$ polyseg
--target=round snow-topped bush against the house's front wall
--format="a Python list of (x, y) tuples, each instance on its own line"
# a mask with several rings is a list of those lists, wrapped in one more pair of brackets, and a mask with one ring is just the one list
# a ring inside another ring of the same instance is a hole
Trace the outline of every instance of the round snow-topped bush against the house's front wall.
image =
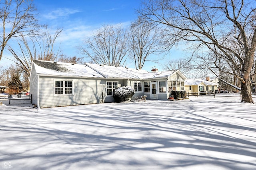
[(113, 97), (116, 102), (124, 102), (134, 95), (134, 88), (131, 86), (122, 86), (116, 88), (113, 92)]

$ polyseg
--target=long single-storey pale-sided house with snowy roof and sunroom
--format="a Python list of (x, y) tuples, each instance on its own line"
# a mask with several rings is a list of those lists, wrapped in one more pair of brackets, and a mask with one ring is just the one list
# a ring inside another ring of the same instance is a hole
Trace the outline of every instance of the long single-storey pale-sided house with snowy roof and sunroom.
[(186, 76), (179, 70), (147, 72), (99, 64), (71, 64), (33, 60), (30, 94), (38, 107), (114, 102), (113, 90), (132, 86), (133, 98), (167, 100), (184, 90)]

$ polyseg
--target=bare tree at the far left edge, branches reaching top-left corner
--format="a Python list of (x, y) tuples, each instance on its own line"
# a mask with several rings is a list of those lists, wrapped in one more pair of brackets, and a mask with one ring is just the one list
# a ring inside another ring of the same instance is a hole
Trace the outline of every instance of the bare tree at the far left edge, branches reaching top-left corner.
[(0, 60), (8, 41), (21, 35), (32, 35), (38, 27), (32, 0), (0, 1)]

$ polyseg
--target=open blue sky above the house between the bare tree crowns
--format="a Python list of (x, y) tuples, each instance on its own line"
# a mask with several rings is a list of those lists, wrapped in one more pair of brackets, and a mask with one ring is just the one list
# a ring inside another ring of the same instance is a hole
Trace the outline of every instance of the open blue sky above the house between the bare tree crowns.
[[(83, 43), (86, 36), (103, 24), (122, 23), (123, 27), (128, 27), (137, 18), (135, 9), (140, 7), (140, 0), (34, 0), (34, 4), (40, 24), (48, 25), (52, 30), (63, 29), (58, 38), (62, 53), (68, 57), (83, 57), (76, 47)], [(3, 65), (2, 60), (0, 65)], [(150, 71), (151, 67), (156, 66), (162, 70), (161, 63), (148, 62), (143, 69)], [(127, 66), (134, 68), (132, 63)]]

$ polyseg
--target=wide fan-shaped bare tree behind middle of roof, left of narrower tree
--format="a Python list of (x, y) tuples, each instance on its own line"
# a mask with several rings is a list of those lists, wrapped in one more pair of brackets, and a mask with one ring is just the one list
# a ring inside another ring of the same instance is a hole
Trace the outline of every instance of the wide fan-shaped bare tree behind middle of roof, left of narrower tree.
[(92, 63), (123, 66), (129, 51), (126, 31), (121, 25), (103, 25), (97, 33), (84, 41), (84, 46), (78, 49)]

